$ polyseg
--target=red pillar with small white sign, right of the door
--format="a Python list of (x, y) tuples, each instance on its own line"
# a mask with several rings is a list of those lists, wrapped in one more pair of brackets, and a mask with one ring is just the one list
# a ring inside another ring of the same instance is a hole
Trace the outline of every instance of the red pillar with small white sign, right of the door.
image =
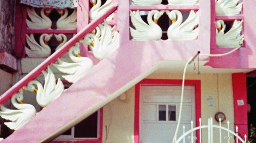
[[(238, 126), (238, 132), (242, 135), (242, 137), (245, 134), (248, 136), (246, 74), (233, 73), (232, 84), (235, 126)], [(244, 105), (238, 105), (238, 100), (243, 100)]]

